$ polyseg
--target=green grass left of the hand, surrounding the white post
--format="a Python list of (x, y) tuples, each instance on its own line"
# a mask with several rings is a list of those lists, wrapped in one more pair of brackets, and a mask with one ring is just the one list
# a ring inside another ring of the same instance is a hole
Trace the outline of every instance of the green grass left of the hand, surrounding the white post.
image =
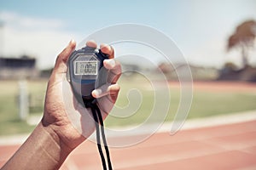
[[(29, 81), (30, 114), (42, 115), (46, 81)], [(0, 82), (0, 135), (30, 133), (34, 126), (20, 121), (18, 114), (18, 81)]]

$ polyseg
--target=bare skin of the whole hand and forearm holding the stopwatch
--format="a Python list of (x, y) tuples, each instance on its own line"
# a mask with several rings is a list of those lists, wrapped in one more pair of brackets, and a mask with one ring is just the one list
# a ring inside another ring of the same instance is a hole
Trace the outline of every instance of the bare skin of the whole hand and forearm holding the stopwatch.
[[(94, 48), (97, 46), (94, 41), (86, 42), (86, 45)], [(91, 119), (90, 109), (86, 110), (79, 105), (73, 97), (72, 88), (66, 78), (67, 60), (75, 47), (76, 42), (72, 40), (58, 55), (54, 70), (49, 77), (43, 119), (15, 155), (2, 167), (2, 170), (58, 169), (67, 156), (94, 132), (95, 122)], [(99, 107), (105, 119), (119, 94), (119, 85), (116, 82), (119, 79), (121, 67), (113, 60), (113, 48), (107, 44), (102, 44), (100, 48), (110, 58), (103, 62), (109, 71), (109, 84), (94, 90), (92, 95), (99, 99)], [(63, 87), (65, 93), (63, 93)], [(67, 98), (67, 96), (71, 97)], [(70, 119), (72, 116), (79, 117), (79, 123), (75, 118)]]

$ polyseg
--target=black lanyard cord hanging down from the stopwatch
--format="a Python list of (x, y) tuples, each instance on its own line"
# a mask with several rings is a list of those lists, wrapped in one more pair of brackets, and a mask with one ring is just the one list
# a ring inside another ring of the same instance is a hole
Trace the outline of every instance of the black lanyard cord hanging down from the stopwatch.
[[(104, 149), (107, 155), (107, 160), (108, 160), (108, 169), (112, 170), (112, 165), (111, 165), (111, 160), (110, 160), (110, 155), (109, 155), (109, 150), (108, 150), (108, 144), (107, 144), (107, 140), (105, 137), (105, 132), (104, 132), (104, 124), (103, 124), (103, 120), (102, 120), (102, 113), (101, 110), (99, 109), (98, 105), (96, 104), (86, 104), (85, 105), (87, 108), (90, 107), (90, 110), (92, 112), (92, 116), (94, 118), (95, 121), (95, 127), (96, 127), (96, 142), (97, 142), (97, 147), (102, 159), (102, 167), (104, 170), (107, 170), (107, 165), (106, 165), (106, 161), (105, 161), (105, 156), (103, 154), (102, 151), (102, 144), (101, 144), (101, 136), (100, 133), (102, 133), (102, 141), (104, 144)], [(101, 130), (100, 130), (101, 128)]]

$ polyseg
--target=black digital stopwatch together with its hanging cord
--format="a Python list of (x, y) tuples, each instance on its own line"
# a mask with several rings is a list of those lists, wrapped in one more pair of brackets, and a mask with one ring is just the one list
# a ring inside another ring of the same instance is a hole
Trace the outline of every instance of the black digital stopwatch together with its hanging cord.
[(96, 141), (102, 158), (102, 167), (107, 170), (107, 164), (102, 152), (100, 133), (102, 133), (102, 141), (107, 155), (108, 169), (112, 170), (102, 113), (96, 99), (91, 95), (95, 88), (100, 88), (107, 83), (108, 71), (103, 66), (104, 59), (108, 59), (108, 55), (103, 54), (101, 49), (84, 47), (74, 51), (67, 63), (67, 80), (70, 82), (73, 94), (79, 103), (88, 109), (90, 108), (95, 121)]

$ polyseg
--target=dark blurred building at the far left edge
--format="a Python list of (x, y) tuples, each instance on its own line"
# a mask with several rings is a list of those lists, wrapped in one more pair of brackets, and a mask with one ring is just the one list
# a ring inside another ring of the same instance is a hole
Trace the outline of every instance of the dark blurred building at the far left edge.
[(21, 58), (0, 58), (0, 78), (20, 79), (39, 76), (36, 59), (22, 56)]

